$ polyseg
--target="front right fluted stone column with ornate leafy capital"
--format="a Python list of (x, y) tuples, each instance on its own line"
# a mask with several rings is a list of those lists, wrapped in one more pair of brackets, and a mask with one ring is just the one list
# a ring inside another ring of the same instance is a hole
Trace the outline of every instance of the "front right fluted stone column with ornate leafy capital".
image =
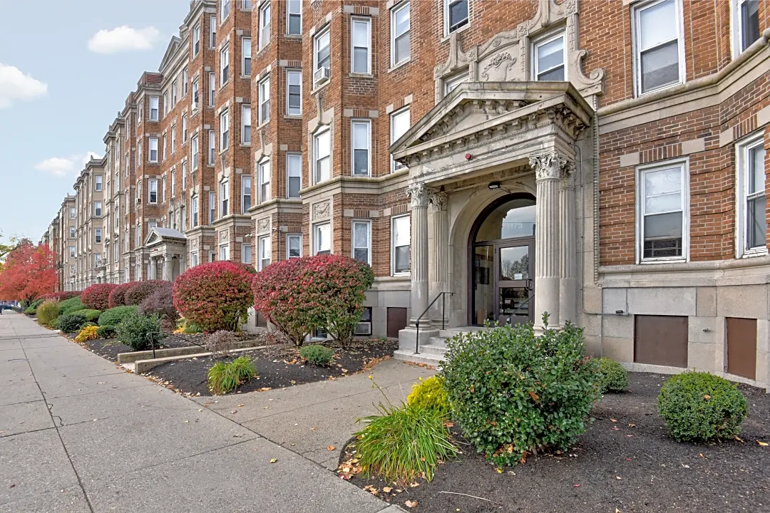
[(534, 252), (534, 325), (543, 328), (559, 323), (559, 180), (567, 159), (551, 151), (530, 157), (537, 183), (537, 216)]

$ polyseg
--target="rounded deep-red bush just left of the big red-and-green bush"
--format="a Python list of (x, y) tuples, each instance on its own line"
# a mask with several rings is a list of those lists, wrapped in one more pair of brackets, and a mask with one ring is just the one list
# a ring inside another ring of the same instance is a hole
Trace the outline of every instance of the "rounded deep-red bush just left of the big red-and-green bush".
[(232, 261), (196, 265), (176, 278), (174, 307), (203, 331), (235, 331), (252, 304), (252, 276)]

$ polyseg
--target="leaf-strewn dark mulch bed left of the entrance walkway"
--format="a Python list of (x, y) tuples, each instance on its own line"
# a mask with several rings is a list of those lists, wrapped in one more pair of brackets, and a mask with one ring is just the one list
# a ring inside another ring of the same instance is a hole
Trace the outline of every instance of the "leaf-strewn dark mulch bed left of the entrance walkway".
[(211, 395), (207, 384), (209, 368), (216, 361), (233, 361), (247, 355), (251, 357), (258, 378), (250, 379), (238, 387), (236, 393), (259, 390), (260, 388), (283, 388), (324, 379), (336, 379), (363, 370), (372, 361), (390, 357), (398, 348), (397, 341), (372, 338), (357, 340), (345, 349), (333, 342), (323, 345), (335, 350), (334, 361), (329, 367), (306, 365), (300, 358), (299, 349), (293, 345), (276, 345), (256, 351), (239, 351), (227, 358), (189, 358), (179, 360), (149, 371), (149, 375), (166, 381), (173, 388), (193, 395)]

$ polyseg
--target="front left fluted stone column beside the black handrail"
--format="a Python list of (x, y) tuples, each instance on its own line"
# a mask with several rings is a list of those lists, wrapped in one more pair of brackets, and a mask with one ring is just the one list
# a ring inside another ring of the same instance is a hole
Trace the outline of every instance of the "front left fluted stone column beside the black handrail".
[[(415, 325), (417, 316), (428, 306), (428, 194), (425, 184), (418, 182), (407, 187), (407, 196), (412, 200), (412, 276), (410, 325)], [(430, 318), (420, 321), (420, 328), (430, 325)]]

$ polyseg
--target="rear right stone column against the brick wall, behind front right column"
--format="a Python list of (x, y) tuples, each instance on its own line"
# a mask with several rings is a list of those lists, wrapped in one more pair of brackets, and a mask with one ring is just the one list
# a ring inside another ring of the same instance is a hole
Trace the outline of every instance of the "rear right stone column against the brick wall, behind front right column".
[(575, 165), (564, 166), (564, 176), (559, 184), (559, 228), (561, 261), (559, 281), (559, 324), (577, 320), (577, 242), (575, 240)]

